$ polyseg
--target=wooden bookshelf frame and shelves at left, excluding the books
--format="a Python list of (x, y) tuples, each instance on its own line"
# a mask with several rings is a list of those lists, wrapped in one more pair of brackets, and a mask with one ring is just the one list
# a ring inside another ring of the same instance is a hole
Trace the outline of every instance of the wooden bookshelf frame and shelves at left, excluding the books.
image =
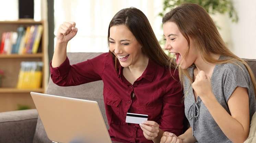
[[(42, 25), (43, 32), (39, 44), (39, 52), (36, 54), (0, 54), (0, 69), (4, 71), (2, 85), (0, 86), (0, 112), (13, 111), (18, 109), (18, 105), (35, 108), (30, 92), (45, 92), (45, 25), (44, 21), (34, 20), (17, 20), (17, 21), (0, 21), (0, 41), (3, 32), (17, 31), (20, 26)], [(43, 62), (42, 67), (42, 84), (39, 89), (17, 89), (17, 81), (22, 61)]]

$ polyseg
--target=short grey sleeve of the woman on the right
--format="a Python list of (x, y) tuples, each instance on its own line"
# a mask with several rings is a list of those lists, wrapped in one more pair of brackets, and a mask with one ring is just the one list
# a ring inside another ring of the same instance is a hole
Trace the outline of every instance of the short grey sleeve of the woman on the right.
[(228, 64), (223, 74), (223, 92), (225, 100), (228, 100), (236, 87), (247, 88), (249, 93), (249, 74), (244, 65)]

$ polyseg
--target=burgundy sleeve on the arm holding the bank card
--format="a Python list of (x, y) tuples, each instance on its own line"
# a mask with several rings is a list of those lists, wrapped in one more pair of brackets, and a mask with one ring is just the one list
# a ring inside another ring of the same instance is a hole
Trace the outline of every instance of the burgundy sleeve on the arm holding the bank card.
[(163, 96), (163, 109), (159, 122), (159, 128), (163, 131), (169, 131), (176, 136), (182, 134), (184, 120), (184, 102), (183, 90), (179, 80), (178, 72), (175, 72), (167, 85), (166, 94)]

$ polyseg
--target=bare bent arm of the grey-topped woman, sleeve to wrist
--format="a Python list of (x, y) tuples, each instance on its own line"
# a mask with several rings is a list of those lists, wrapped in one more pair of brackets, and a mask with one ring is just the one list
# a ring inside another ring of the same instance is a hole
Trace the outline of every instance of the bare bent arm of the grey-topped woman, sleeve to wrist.
[[(203, 100), (203, 99), (202, 99)], [(237, 87), (228, 100), (231, 115), (214, 95), (203, 102), (223, 133), (232, 142), (244, 142), (249, 134), (249, 102), (246, 88)], [(227, 122), (228, 121), (228, 122)]]

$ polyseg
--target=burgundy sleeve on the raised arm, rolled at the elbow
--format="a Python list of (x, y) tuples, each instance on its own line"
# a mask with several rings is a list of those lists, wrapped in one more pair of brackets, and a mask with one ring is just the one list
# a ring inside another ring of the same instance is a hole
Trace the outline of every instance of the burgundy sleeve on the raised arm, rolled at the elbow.
[(59, 67), (52, 67), (50, 62), (51, 79), (59, 86), (75, 86), (101, 80), (107, 55), (108, 53), (103, 53), (93, 59), (74, 65), (70, 65), (67, 57)]

